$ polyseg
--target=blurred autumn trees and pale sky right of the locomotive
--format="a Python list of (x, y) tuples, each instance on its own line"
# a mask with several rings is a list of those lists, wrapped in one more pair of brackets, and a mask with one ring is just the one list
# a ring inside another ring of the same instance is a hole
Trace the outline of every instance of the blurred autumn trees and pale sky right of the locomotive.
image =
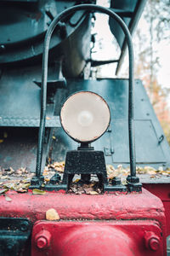
[(170, 111), (167, 107), (167, 95), (170, 89), (163, 89), (158, 83), (157, 73), (160, 59), (157, 45), (170, 40), (170, 0), (148, 0), (144, 9), (145, 32), (136, 31), (135, 51), (137, 78), (144, 81), (156, 115), (170, 143)]

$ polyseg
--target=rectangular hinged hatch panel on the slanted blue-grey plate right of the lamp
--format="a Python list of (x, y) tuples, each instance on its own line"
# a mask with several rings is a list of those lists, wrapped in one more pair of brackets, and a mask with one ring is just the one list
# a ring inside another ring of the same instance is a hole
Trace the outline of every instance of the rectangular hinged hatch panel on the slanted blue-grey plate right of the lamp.
[[(129, 162), (127, 121), (112, 120), (112, 141), (114, 145), (113, 162)], [(158, 144), (158, 137), (151, 120), (135, 120), (135, 141), (137, 164), (154, 164), (165, 162), (165, 155)]]

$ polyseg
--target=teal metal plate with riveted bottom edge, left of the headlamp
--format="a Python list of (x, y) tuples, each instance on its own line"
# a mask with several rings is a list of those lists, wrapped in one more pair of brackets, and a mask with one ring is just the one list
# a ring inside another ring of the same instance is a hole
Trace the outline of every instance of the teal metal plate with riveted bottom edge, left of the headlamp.
[[(49, 72), (54, 70), (49, 68)], [(0, 126), (39, 126), (41, 89), (33, 81), (40, 78), (41, 67), (18, 67), (3, 72), (0, 80)], [(59, 117), (54, 116), (54, 104), (47, 105), (46, 127), (60, 127)]]

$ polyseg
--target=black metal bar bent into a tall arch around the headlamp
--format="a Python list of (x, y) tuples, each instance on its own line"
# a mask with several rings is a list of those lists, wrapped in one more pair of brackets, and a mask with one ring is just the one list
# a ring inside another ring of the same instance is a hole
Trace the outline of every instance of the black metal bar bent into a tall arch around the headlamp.
[(38, 135), (38, 148), (37, 148), (37, 167), (36, 167), (36, 176), (40, 177), (41, 175), (41, 162), (42, 162), (42, 144), (44, 139), (44, 130), (45, 130), (45, 118), (46, 118), (46, 98), (47, 98), (47, 79), (48, 79), (48, 49), (50, 38), (54, 32), (54, 28), (59, 23), (59, 20), (64, 19), (66, 16), (71, 15), (73, 12), (78, 10), (88, 10), (89, 12), (97, 11), (99, 13), (104, 13), (110, 15), (112, 19), (116, 20), (119, 25), (122, 27), (122, 30), (127, 38), (127, 46), (129, 51), (129, 102), (128, 102), (128, 130), (129, 130), (129, 155), (130, 155), (130, 171), (131, 177), (136, 176), (136, 157), (135, 157), (135, 144), (134, 144), (134, 131), (133, 131), (133, 43), (131, 34), (128, 31), (128, 28), (124, 21), (112, 12), (110, 9), (95, 5), (95, 4), (81, 4), (69, 9), (64, 10), (59, 14), (48, 27), (46, 32), (44, 46), (43, 46), (43, 55), (42, 55), (42, 104), (41, 104), (41, 119), (40, 119), (40, 128)]

